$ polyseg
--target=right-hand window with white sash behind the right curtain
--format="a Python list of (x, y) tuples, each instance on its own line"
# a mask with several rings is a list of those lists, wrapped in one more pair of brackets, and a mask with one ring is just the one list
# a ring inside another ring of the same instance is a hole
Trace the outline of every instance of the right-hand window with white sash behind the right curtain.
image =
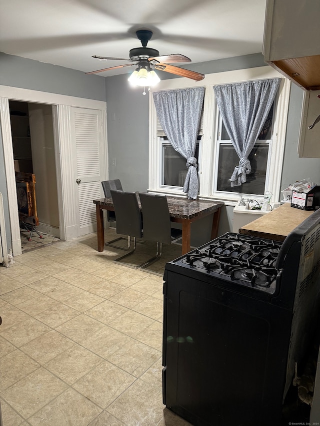
[(246, 182), (241, 186), (230, 186), (230, 177), (239, 157), (233, 148), (221, 115), (218, 113), (218, 132), (216, 140), (217, 167), (215, 170), (215, 190), (217, 192), (233, 192), (241, 194), (263, 195), (268, 188), (268, 169), (271, 151), (271, 136), (273, 124), (273, 105), (257, 137), (248, 159), (251, 163), (251, 173), (246, 175)]

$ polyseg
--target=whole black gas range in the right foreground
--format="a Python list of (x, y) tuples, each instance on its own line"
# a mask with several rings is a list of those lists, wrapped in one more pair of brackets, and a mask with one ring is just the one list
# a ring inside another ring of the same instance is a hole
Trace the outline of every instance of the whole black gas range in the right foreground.
[(226, 233), (165, 265), (163, 403), (196, 426), (276, 426), (320, 310), (320, 211), (283, 243)]

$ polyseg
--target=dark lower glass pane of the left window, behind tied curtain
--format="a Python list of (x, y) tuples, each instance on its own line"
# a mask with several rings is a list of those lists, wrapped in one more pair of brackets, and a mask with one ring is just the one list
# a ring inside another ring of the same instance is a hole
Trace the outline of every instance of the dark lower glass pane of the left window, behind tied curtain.
[[(195, 158), (198, 161), (199, 144), (196, 144)], [(187, 172), (186, 159), (171, 145), (162, 145), (162, 185), (183, 186)]]

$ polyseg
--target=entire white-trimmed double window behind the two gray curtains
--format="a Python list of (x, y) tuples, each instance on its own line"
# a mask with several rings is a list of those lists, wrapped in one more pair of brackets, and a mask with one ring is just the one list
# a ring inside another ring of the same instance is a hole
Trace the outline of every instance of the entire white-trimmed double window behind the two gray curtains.
[[(234, 205), (239, 194), (261, 197), (269, 190), (275, 201), (279, 199), (290, 81), (286, 78), (281, 80), (272, 111), (249, 155), (252, 172), (240, 187), (231, 187), (228, 181), (239, 159), (219, 117), (213, 91), (215, 84), (279, 76), (268, 65), (205, 75), (201, 129), (195, 154), (198, 160), (199, 198), (222, 200), (226, 205)], [(148, 190), (152, 192), (186, 196), (182, 191), (186, 160), (174, 151), (163, 130), (158, 128), (152, 91), (194, 87), (197, 84), (182, 78), (162, 80), (149, 93)]]

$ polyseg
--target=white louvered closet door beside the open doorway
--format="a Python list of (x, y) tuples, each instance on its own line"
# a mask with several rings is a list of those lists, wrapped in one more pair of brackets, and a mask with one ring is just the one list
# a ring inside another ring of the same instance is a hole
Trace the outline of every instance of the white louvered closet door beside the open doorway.
[(94, 198), (101, 198), (103, 144), (101, 112), (71, 108), (73, 122), (78, 193), (78, 236), (96, 230)]

